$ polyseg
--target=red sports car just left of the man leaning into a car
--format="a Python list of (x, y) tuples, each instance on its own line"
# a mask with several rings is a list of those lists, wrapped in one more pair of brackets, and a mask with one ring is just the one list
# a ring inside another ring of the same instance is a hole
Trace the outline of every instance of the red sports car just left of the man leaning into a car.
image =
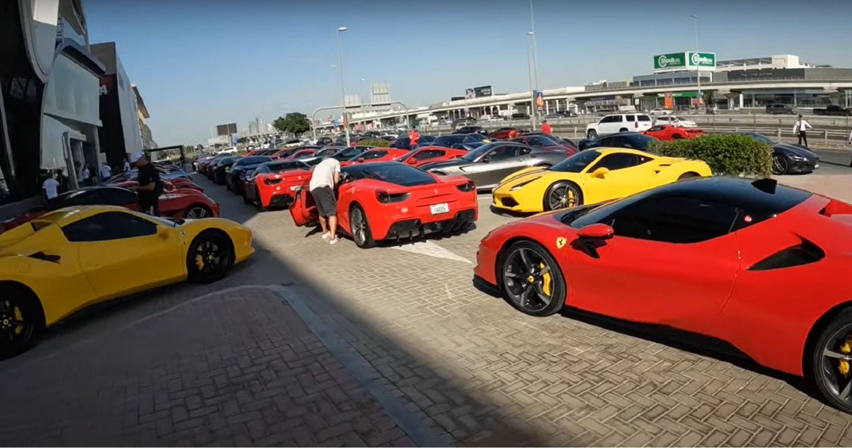
[(257, 167), (244, 183), (245, 204), (256, 204), (257, 210), (287, 207), (296, 192), (311, 180), (313, 166), (301, 160), (275, 160)]

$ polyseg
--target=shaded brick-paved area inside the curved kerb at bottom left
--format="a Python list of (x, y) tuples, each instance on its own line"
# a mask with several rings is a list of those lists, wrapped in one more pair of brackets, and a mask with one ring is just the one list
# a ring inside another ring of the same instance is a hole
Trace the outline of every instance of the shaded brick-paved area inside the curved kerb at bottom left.
[(3, 445), (413, 445), (262, 288), (187, 302), (0, 382)]

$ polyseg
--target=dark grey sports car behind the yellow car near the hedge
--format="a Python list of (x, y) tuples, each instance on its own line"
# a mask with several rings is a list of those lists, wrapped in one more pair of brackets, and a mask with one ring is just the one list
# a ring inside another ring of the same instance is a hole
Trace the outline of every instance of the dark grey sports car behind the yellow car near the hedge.
[(424, 164), (420, 169), (437, 175), (463, 175), (474, 181), (477, 189), (488, 190), (518, 169), (550, 167), (565, 158), (566, 152), (521, 145), (513, 141), (496, 141), (475, 148), (461, 158)]

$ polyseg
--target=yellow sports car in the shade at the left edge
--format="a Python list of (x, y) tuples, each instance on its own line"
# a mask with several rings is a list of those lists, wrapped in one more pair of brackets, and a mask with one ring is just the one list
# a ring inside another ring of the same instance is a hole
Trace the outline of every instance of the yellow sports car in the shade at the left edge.
[(221, 218), (167, 220), (121, 207), (67, 207), (0, 234), (0, 359), (93, 303), (184, 279), (221, 279), (254, 249)]

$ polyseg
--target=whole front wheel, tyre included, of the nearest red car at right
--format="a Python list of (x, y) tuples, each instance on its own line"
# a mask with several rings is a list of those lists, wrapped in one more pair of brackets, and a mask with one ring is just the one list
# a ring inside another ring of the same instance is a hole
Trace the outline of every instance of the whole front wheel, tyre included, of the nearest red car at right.
[(565, 278), (541, 244), (521, 240), (501, 250), (497, 279), (506, 301), (521, 313), (544, 317), (565, 306)]

